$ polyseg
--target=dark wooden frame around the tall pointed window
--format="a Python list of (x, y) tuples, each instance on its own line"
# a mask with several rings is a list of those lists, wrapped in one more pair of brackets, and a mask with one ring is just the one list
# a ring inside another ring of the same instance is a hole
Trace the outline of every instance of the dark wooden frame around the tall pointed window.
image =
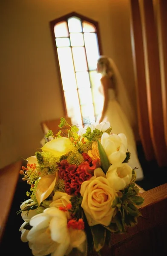
[[(70, 17), (73, 17), (73, 16), (80, 18), (81, 22), (83, 22), (83, 20), (85, 20), (89, 23), (92, 23), (95, 26), (97, 39), (98, 39), (99, 54), (102, 55), (102, 47), (101, 47), (100, 30), (99, 30), (98, 21), (92, 20), (86, 16), (78, 14), (77, 12), (70, 12), (69, 14), (63, 15), (55, 20), (50, 21), (52, 43), (53, 43), (53, 48), (54, 48), (54, 52), (55, 52), (55, 61), (58, 66), (58, 80), (59, 80), (59, 84), (60, 84), (61, 98), (62, 98), (62, 102), (63, 102), (63, 113), (65, 116), (67, 116), (67, 109), (66, 109), (66, 102), (65, 102), (64, 90), (63, 90), (63, 83), (62, 83), (62, 79), (61, 79), (60, 64), (59, 64), (59, 60), (58, 60), (58, 50), (57, 50), (58, 47), (56, 46), (56, 43), (55, 43), (54, 27), (55, 27), (56, 23), (59, 23), (61, 21), (67, 22), (67, 19)], [(81, 106), (80, 106), (80, 108), (81, 108)], [(83, 125), (83, 120), (82, 120), (82, 125)]]

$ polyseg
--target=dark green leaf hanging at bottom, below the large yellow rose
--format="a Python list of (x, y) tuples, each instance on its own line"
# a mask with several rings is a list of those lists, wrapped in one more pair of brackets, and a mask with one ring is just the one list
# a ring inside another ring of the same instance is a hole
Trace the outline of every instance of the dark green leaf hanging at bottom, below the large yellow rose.
[(93, 236), (93, 243), (96, 252), (99, 252), (105, 244), (106, 240), (106, 229), (102, 225), (95, 225), (90, 227), (92, 236)]

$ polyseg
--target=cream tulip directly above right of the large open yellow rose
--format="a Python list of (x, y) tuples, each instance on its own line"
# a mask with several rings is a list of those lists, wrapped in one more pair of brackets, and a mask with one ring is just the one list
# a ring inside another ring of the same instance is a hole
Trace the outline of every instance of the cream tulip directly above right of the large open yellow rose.
[(124, 189), (132, 179), (132, 168), (127, 163), (121, 163), (118, 166), (109, 167), (106, 178), (109, 185), (116, 191)]

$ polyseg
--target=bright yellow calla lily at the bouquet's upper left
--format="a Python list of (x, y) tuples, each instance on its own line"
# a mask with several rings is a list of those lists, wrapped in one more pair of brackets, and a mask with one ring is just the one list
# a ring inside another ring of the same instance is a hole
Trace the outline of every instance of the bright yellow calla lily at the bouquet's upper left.
[(44, 152), (50, 152), (55, 157), (60, 157), (72, 149), (72, 143), (68, 138), (61, 137), (47, 142), (41, 149)]

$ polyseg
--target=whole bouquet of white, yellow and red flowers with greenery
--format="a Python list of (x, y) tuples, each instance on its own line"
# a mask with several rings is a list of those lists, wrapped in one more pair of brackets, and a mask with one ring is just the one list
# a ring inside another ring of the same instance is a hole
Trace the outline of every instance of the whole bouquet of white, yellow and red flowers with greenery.
[(30, 185), (19, 211), (21, 240), (35, 256), (100, 254), (112, 233), (126, 232), (141, 215), (127, 138), (112, 134), (109, 122), (69, 125), (66, 137), (49, 130), (46, 138), (20, 170)]

